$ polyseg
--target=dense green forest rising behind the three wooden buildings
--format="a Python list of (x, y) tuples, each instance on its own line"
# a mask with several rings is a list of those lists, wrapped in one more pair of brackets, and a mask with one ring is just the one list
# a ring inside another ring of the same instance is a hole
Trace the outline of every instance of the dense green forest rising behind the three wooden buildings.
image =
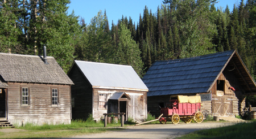
[(69, 0), (0, 2), (0, 52), (42, 55), (43, 44), (65, 72), (74, 59), (131, 65), (143, 77), (155, 60), (196, 57), (236, 49), (255, 78), (256, 0), (224, 9), (216, 0), (164, 0), (147, 6), (139, 23), (106, 11), (89, 24), (67, 14)]

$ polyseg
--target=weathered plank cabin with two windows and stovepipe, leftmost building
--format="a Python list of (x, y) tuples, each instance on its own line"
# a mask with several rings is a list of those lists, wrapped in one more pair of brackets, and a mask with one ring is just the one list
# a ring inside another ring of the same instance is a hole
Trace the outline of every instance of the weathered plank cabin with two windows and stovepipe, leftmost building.
[(0, 53), (0, 118), (70, 124), (72, 84), (53, 57)]

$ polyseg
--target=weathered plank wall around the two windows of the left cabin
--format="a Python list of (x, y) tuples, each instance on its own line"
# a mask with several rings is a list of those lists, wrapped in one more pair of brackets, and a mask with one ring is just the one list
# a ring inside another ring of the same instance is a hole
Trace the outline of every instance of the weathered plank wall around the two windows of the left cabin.
[[(22, 120), (33, 121), (49, 119), (71, 122), (71, 102), (69, 85), (10, 83), (8, 84), (8, 118), (20, 123)], [(30, 105), (22, 106), (20, 103), (20, 86), (30, 88)], [(51, 106), (51, 88), (59, 89), (59, 106)], [(36, 123), (42, 124), (37, 121)], [(52, 124), (55, 124), (52, 123)]]

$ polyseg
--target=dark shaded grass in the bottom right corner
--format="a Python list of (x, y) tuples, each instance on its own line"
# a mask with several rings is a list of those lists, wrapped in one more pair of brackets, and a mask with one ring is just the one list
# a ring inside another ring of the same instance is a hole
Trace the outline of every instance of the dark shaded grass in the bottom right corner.
[(186, 134), (179, 138), (255, 138), (256, 137), (256, 121), (248, 123), (238, 123), (228, 127), (205, 129)]

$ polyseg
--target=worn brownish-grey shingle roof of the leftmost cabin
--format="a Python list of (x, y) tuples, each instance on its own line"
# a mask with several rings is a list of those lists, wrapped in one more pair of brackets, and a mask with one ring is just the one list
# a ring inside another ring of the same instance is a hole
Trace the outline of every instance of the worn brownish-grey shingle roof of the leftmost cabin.
[(53, 57), (0, 53), (0, 75), (5, 82), (35, 82), (45, 84), (68, 84), (73, 82)]

